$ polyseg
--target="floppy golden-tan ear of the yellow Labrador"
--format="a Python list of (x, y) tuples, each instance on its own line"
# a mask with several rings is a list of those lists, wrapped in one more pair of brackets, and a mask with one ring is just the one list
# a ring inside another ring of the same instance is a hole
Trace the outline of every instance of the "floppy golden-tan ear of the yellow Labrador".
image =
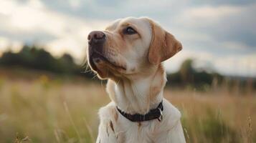
[(159, 64), (181, 51), (181, 43), (169, 32), (163, 30), (156, 22), (148, 19), (151, 24), (152, 37), (148, 50), (148, 61), (151, 64)]

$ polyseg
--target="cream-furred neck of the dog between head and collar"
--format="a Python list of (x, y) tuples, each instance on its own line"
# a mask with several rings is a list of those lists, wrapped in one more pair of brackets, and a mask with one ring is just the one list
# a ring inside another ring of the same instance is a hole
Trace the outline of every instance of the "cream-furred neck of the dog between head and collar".
[(163, 99), (163, 87), (166, 74), (160, 64), (151, 74), (136, 79), (120, 79), (118, 82), (108, 81), (107, 92), (110, 99), (129, 114), (146, 114), (154, 109)]

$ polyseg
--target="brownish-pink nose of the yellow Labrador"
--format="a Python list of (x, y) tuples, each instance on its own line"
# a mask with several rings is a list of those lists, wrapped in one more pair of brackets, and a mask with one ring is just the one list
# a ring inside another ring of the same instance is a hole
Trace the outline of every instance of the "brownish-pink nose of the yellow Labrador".
[(103, 31), (91, 31), (87, 39), (89, 44), (103, 44), (105, 41), (105, 34)]

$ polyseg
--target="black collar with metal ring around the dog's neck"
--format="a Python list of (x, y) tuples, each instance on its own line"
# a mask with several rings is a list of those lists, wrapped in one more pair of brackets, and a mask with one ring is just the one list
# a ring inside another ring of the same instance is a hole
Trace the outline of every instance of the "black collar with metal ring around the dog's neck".
[(158, 104), (156, 109), (151, 109), (147, 114), (127, 114), (120, 110), (118, 107), (118, 112), (123, 115), (126, 119), (129, 119), (131, 122), (143, 122), (149, 121), (152, 119), (158, 119), (159, 122), (163, 119), (163, 101)]

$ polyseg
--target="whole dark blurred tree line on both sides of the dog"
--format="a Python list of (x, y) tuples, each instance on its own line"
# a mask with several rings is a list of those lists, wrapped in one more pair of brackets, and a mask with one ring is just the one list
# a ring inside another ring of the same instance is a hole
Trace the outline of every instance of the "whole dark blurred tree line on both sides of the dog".
[[(192, 59), (186, 59), (179, 69), (172, 74), (167, 74), (167, 85), (177, 87), (191, 87), (205, 90), (209, 87), (219, 87), (223, 83), (229, 86), (238, 85), (239, 87), (247, 87), (248, 84), (256, 89), (255, 79), (242, 79), (234, 77), (224, 77), (217, 72), (209, 72), (207, 70), (198, 70), (193, 66)], [(77, 75), (92, 79), (95, 75), (92, 72), (84, 72), (85, 67), (77, 65), (70, 54), (64, 54), (60, 58), (52, 56), (48, 51), (37, 46), (24, 45), (18, 53), (6, 51), (0, 57), (0, 66), (13, 67), (21, 66), (26, 69), (38, 69), (50, 71), (55, 74)], [(249, 80), (249, 82), (248, 82)], [(237, 84), (238, 83), (238, 84)]]

